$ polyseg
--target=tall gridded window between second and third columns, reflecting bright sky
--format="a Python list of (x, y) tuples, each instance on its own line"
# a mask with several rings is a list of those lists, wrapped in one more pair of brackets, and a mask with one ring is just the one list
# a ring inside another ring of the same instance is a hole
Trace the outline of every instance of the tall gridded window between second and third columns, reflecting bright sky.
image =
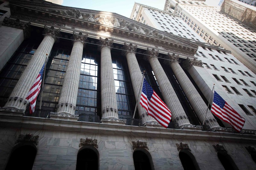
[(94, 46), (88, 47), (87, 45), (87, 48), (84, 49), (76, 99), (77, 115), (101, 115), (100, 55), (94, 52), (94, 48)]

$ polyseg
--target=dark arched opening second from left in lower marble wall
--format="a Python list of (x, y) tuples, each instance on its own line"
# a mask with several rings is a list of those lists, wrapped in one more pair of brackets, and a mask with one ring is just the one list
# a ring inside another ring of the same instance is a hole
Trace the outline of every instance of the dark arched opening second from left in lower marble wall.
[(76, 170), (98, 170), (98, 154), (90, 148), (82, 148), (77, 154)]

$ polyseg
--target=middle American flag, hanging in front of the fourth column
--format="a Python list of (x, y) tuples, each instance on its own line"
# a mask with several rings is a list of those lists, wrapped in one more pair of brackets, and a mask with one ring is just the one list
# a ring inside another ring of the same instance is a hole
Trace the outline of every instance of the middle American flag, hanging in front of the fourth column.
[(172, 116), (171, 111), (148, 84), (145, 78), (143, 81), (140, 105), (144, 107), (147, 110), (148, 115), (154, 117), (158, 123), (165, 128), (168, 127)]

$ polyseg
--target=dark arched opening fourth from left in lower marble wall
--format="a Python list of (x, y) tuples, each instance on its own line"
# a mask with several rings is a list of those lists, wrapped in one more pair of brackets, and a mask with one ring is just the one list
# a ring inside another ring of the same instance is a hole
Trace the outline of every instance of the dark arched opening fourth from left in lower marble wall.
[(196, 158), (188, 150), (181, 150), (179, 157), (184, 170), (200, 170)]

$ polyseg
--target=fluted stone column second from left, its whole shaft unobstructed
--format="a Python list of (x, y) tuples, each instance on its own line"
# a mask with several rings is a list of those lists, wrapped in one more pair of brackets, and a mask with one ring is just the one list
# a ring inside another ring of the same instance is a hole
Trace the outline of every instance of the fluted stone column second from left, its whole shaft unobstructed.
[(81, 60), (88, 35), (73, 32), (73, 48), (68, 61), (64, 83), (60, 93), (58, 114), (75, 114), (77, 90), (80, 78)]

